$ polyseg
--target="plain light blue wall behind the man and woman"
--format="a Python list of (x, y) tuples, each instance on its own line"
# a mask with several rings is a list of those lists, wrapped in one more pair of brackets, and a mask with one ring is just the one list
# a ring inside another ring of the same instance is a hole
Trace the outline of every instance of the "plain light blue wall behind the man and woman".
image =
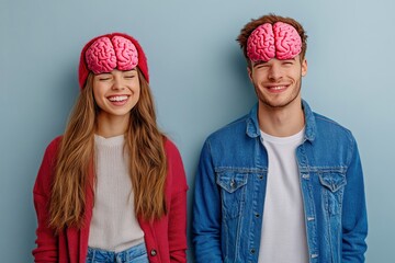
[(33, 260), (32, 186), (46, 145), (63, 133), (78, 95), (77, 66), (86, 42), (114, 31), (139, 39), (160, 127), (184, 160), (190, 205), (205, 137), (256, 101), (235, 38), (250, 19), (268, 12), (293, 16), (307, 31), (303, 95), (357, 137), (370, 219), (368, 262), (390, 262), (395, 248), (394, 11), (392, 0), (1, 0), (1, 262)]

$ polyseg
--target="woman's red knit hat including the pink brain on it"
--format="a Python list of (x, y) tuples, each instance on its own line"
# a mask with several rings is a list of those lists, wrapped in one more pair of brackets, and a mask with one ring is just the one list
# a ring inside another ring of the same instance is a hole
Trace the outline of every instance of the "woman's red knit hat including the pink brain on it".
[(110, 72), (138, 67), (149, 82), (146, 56), (138, 42), (129, 35), (112, 33), (91, 39), (82, 49), (79, 65), (79, 84), (83, 89), (89, 71)]

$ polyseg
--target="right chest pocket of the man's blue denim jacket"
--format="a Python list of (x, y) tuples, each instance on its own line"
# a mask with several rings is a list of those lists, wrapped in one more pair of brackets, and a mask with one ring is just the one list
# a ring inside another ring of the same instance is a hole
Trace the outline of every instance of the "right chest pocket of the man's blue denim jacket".
[(329, 216), (341, 213), (342, 197), (347, 184), (346, 173), (340, 171), (318, 172), (319, 182), (323, 186), (321, 195), (324, 207)]

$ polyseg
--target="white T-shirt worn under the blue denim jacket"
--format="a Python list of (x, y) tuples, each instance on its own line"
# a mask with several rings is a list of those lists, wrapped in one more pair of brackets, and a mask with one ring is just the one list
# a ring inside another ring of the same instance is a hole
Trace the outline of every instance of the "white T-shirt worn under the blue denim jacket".
[(261, 132), (269, 171), (264, 197), (259, 263), (307, 263), (308, 248), (296, 147), (304, 129), (290, 137)]

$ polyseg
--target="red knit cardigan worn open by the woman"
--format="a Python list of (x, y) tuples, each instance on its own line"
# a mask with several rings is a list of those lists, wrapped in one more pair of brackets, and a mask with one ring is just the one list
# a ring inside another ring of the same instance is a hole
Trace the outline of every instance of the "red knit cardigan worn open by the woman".
[[(67, 228), (55, 235), (47, 226), (54, 160), (61, 137), (47, 147), (33, 188), (34, 206), (37, 214), (36, 244), (34, 262), (79, 263), (86, 262), (89, 226), (92, 218), (93, 193), (87, 191), (87, 209), (83, 227)], [(149, 262), (187, 262), (187, 180), (182, 160), (177, 147), (166, 140), (168, 161), (166, 181), (166, 203), (168, 214), (161, 219), (148, 222), (138, 219), (144, 231)], [(93, 170), (92, 170), (93, 171)], [(93, 172), (91, 171), (91, 175)]]

